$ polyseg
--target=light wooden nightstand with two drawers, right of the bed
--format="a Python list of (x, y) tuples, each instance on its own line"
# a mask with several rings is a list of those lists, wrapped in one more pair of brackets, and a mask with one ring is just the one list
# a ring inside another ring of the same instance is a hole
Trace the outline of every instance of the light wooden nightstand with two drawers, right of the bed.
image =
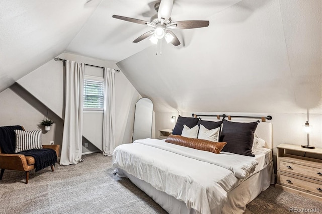
[[(322, 148), (306, 149), (299, 145), (280, 144), (277, 146), (276, 188), (322, 201)], [(308, 158), (287, 154), (287, 150), (317, 154)]]

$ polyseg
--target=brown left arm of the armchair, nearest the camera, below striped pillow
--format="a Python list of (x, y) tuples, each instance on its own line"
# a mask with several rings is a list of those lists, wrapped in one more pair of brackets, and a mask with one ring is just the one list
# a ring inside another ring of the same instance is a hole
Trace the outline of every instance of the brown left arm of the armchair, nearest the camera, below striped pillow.
[(25, 171), (28, 168), (28, 164), (25, 155), (1, 153), (0, 168)]

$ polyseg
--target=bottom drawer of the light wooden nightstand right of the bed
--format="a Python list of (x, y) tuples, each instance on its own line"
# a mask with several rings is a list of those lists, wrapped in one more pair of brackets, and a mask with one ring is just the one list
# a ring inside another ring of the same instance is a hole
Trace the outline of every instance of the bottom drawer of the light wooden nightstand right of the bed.
[[(285, 186), (289, 186), (292, 188), (300, 189), (304, 192), (322, 196), (322, 182), (313, 180), (313, 179), (305, 179), (296, 175), (291, 175), (283, 172), (277, 172), (278, 180), (277, 183)], [(321, 189), (321, 190), (319, 190)]]

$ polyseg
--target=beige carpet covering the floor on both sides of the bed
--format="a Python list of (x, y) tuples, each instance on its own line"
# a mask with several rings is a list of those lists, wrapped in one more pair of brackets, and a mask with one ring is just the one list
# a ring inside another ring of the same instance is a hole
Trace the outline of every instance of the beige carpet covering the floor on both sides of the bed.
[[(56, 165), (54, 172), (50, 167), (33, 171), (28, 184), (24, 172), (6, 170), (0, 181), (0, 213), (166, 213), (127, 178), (113, 175), (112, 157), (95, 153), (83, 158), (76, 165)], [(271, 186), (245, 213), (290, 213), (289, 207), (322, 212), (322, 202)]]

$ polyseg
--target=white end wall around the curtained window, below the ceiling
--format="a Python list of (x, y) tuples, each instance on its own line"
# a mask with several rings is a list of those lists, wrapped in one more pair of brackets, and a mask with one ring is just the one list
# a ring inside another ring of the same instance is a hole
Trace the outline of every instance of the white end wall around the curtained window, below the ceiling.
[[(113, 61), (103, 61), (70, 53), (62, 53), (58, 57), (62, 59), (84, 62), (86, 64), (118, 69)], [(48, 106), (48, 108), (56, 113), (59, 117), (63, 117), (64, 72), (61, 61), (54, 61), (53, 59), (50, 60), (18, 80), (18, 83), (37, 99), (43, 102), (46, 106)], [(116, 72), (116, 145), (130, 143), (132, 141), (135, 102), (139, 99), (139, 97), (139, 93), (127, 80), (123, 73)], [(44, 117), (40, 113), (37, 115), (35, 113), (37, 110), (35, 110), (32, 106), (28, 106), (28, 103), (25, 103), (21, 97), (17, 96), (10, 89), (0, 93), (0, 100), (1, 126), (21, 124), (24, 125), (27, 130), (35, 129), (37, 128), (37, 124), (39, 124)], [(33, 118), (33, 120), (30, 120), (29, 117)], [(21, 121), (24, 121), (24, 124), (22, 124)], [(89, 126), (96, 127), (96, 124), (87, 124), (85, 128)], [(45, 139), (48, 141), (48, 143), (49, 141), (54, 140), (54, 132), (55, 129), (51, 130), (46, 135)], [(86, 130), (84, 133), (86, 133)], [(91, 136), (89, 136), (89, 138), (91, 138)], [(61, 142), (55, 143), (61, 145)]]

